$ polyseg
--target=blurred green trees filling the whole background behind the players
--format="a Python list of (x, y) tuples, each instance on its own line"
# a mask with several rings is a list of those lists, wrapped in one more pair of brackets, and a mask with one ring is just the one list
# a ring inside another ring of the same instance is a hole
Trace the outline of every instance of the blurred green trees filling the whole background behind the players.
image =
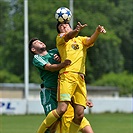
[[(92, 35), (99, 24), (107, 30), (88, 50), (87, 83), (93, 83), (110, 72), (132, 72), (132, 4), (132, 0), (74, 1), (74, 26), (78, 21), (88, 24), (80, 35)], [(46, 43), (47, 49), (55, 48), (57, 21), (54, 14), (61, 6), (69, 8), (69, 1), (28, 0), (28, 5), (29, 39), (38, 37)], [(0, 9), (1, 76), (10, 73), (17, 76), (19, 82), (24, 82), (24, 1), (1, 0)], [(38, 72), (32, 65), (32, 56), (30, 54), (29, 58), (30, 82), (40, 83)], [(7, 82), (5, 78), (1, 79), (0, 82)], [(18, 82), (15, 79), (8, 79), (8, 82)]]

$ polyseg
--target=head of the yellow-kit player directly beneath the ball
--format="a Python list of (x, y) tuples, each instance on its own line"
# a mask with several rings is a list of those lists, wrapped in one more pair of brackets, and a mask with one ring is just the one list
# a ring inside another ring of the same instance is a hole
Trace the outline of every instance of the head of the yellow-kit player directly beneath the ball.
[(67, 33), (72, 30), (70, 23), (68, 23), (68, 22), (64, 22), (64, 23), (58, 22), (56, 25), (56, 28), (57, 28), (58, 33)]

